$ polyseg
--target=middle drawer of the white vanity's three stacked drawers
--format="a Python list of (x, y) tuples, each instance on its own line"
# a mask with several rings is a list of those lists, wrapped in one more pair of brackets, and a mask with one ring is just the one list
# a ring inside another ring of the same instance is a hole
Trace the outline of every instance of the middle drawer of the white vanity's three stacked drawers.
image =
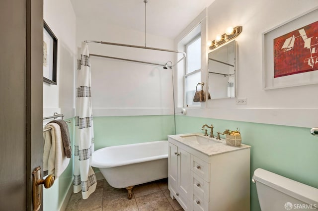
[(199, 177), (193, 171), (190, 172), (191, 185), (193, 192), (199, 195), (205, 202), (210, 201), (210, 183)]

